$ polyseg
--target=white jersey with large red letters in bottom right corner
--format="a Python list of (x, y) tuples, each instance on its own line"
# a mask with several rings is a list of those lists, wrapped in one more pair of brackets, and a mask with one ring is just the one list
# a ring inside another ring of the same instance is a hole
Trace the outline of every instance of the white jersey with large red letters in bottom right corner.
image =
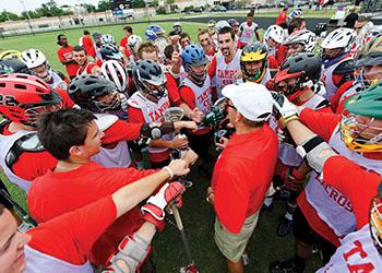
[(329, 263), (317, 273), (378, 273), (382, 272), (382, 257), (370, 236), (369, 224), (348, 234)]

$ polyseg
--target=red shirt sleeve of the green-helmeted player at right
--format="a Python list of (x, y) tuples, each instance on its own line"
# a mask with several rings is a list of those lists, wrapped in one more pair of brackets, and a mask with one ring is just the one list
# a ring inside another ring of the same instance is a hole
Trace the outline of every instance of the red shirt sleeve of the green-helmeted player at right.
[(357, 229), (369, 223), (370, 202), (377, 195), (381, 176), (338, 155), (325, 162), (323, 177), (327, 185), (333, 186), (350, 200), (356, 215)]

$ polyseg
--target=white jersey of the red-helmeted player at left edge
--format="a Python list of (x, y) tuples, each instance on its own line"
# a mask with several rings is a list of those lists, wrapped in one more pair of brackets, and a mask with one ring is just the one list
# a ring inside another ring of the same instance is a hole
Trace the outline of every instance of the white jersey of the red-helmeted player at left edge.
[(13, 144), (20, 140), (21, 138), (27, 135), (27, 134), (36, 134), (35, 131), (17, 131), (10, 135), (0, 134), (0, 166), (8, 177), (8, 179), (12, 182), (17, 185), (20, 188), (22, 188), (24, 191), (28, 192), (32, 181), (27, 181), (19, 176), (16, 176), (7, 165), (5, 163), (5, 156), (8, 155), (9, 151), (13, 146)]

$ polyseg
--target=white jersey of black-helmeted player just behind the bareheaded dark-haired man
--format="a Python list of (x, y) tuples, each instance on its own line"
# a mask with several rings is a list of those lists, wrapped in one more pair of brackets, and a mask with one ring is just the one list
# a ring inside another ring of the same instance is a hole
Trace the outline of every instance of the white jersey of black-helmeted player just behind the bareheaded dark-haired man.
[[(118, 117), (110, 114), (95, 114), (99, 130), (105, 131), (115, 122)], [(102, 147), (100, 152), (92, 156), (92, 161), (107, 168), (123, 168), (131, 165), (131, 157), (127, 141), (119, 141), (112, 149)]]

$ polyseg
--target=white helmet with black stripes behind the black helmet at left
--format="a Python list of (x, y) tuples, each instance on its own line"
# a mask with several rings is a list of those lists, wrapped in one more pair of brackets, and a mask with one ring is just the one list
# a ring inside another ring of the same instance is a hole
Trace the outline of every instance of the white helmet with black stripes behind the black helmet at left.
[(119, 92), (123, 93), (126, 91), (129, 79), (122, 63), (116, 60), (105, 61), (100, 67), (100, 71), (104, 78), (116, 84)]

